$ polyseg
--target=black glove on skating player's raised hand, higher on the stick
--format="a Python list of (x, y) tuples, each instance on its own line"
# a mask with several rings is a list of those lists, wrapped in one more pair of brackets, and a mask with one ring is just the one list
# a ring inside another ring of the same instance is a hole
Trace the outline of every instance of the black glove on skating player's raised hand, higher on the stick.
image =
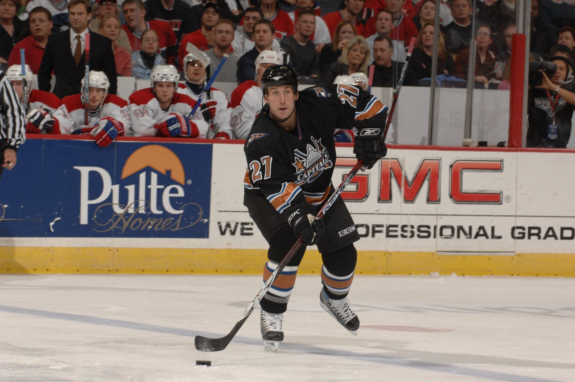
[(354, 154), (363, 162), (362, 170), (371, 169), (388, 153), (385, 141), (382, 138), (384, 129), (367, 127), (363, 121), (355, 121)]

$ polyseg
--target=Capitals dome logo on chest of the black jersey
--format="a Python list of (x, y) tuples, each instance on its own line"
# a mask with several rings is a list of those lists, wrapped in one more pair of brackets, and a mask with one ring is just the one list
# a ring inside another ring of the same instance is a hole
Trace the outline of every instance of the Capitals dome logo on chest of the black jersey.
[(292, 165), (296, 167), (296, 184), (298, 186), (305, 182), (311, 183), (315, 181), (324, 170), (333, 167), (327, 148), (321, 144), (321, 138), (316, 140), (312, 137), (312, 142), (313, 146), (309, 143), (306, 146), (307, 153), (297, 149), (294, 151), (294, 162)]

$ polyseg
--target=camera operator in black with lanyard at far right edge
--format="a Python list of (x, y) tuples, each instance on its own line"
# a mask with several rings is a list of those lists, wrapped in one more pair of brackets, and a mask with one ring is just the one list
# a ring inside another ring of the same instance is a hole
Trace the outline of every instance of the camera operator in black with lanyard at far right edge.
[[(553, 63), (553, 65), (551, 65)], [(553, 56), (549, 62), (538, 63), (547, 67), (538, 79), (531, 70), (528, 93), (527, 147), (565, 148), (571, 135), (571, 119), (575, 110), (575, 93), (563, 86), (573, 80), (573, 63), (563, 56)], [(554, 71), (553, 71), (554, 69)]]

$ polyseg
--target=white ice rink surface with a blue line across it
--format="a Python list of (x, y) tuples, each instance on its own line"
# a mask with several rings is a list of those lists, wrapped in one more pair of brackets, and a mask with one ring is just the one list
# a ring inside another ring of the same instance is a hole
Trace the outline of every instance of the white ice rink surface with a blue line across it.
[[(575, 279), (356, 276), (355, 337), (298, 276), (278, 353), (249, 276), (0, 276), (0, 381), (575, 381)], [(211, 360), (212, 366), (196, 366)]]

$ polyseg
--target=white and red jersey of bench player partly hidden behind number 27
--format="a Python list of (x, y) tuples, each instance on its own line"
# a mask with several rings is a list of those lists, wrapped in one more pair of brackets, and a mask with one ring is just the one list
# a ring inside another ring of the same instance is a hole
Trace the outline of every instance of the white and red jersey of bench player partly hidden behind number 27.
[(230, 125), (236, 139), (247, 139), (255, 118), (262, 110), (262, 102), (262, 88), (251, 79), (233, 90)]

